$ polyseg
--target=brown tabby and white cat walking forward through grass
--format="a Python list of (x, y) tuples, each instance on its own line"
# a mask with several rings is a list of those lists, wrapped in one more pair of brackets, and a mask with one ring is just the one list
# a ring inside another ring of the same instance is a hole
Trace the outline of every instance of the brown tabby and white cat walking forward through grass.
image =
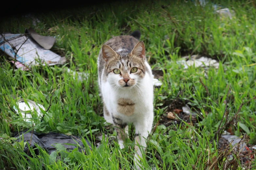
[(153, 75), (145, 59), (144, 42), (139, 39), (139, 31), (115, 36), (102, 46), (97, 60), (104, 118), (115, 126), (121, 149), (128, 137), (128, 123), (134, 124), (137, 169), (154, 117)]

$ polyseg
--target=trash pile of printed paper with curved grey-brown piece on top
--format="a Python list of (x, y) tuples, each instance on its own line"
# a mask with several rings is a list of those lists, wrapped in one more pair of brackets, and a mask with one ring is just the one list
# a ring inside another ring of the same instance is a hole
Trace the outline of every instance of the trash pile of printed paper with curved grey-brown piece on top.
[(55, 38), (38, 35), (33, 29), (26, 34), (3, 33), (0, 37), (0, 49), (4, 51), (17, 68), (28, 70), (31, 65), (64, 64), (66, 59), (52, 52)]

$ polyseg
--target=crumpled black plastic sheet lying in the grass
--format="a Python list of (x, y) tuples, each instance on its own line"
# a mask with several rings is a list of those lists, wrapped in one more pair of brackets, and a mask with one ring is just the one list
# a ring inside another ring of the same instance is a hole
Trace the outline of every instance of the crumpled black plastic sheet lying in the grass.
[[(81, 141), (81, 138), (78, 136), (67, 136), (64, 134), (58, 134), (54, 132), (50, 132), (48, 134), (40, 134), (33, 132), (23, 132), (23, 133), (15, 133), (15, 138), (17, 138), (17, 142), (27, 142), (30, 143), (30, 147), (34, 149), (36, 155), (39, 155), (39, 149), (35, 146), (35, 144), (39, 145), (41, 148), (45, 149), (48, 154), (51, 154), (53, 151), (56, 151), (56, 144), (62, 144), (67, 150), (73, 150), (78, 147), (78, 151), (82, 151), (81, 147), (83, 147), (83, 143)], [(88, 142), (88, 140), (84, 139), (91, 149), (91, 144)], [(24, 152), (28, 152), (28, 146), (24, 147)], [(67, 145), (71, 144), (71, 145)]]

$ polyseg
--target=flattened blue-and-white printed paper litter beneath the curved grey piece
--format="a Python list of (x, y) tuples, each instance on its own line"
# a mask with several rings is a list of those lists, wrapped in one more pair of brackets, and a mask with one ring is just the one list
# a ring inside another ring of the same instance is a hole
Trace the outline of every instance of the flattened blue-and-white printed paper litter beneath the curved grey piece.
[[(65, 57), (61, 57), (50, 50), (43, 49), (31, 38), (27, 39), (25, 34), (1, 35), (0, 49), (12, 59), (16, 59), (26, 67), (38, 65), (39, 63), (42, 65), (45, 65), (45, 63), (47, 65), (64, 64), (66, 61)], [(16, 53), (17, 55), (15, 58)], [(36, 59), (38, 60), (36, 61)]]

